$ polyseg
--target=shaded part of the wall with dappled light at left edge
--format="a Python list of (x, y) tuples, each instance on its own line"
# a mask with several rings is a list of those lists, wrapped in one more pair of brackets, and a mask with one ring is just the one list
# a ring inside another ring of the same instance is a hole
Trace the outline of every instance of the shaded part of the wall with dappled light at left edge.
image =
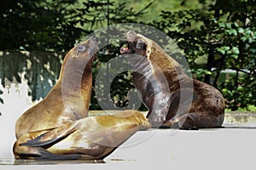
[[(6, 79), (20, 83), (20, 75), (24, 75), (32, 100), (44, 98), (58, 78), (62, 57), (62, 53), (56, 52), (3, 51), (0, 53), (1, 83), (3, 87), (7, 85)], [(0, 103), (3, 103), (1, 94), (0, 91)]]

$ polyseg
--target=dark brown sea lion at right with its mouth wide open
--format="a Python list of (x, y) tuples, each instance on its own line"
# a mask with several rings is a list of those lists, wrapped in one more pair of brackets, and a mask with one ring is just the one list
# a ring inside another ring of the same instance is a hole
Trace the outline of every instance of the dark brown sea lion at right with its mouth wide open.
[(129, 31), (125, 42), (120, 53), (133, 65), (133, 82), (154, 127), (221, 127), (224, 98), (218, 89), (188, 77), (175, 59), (147, 37)]

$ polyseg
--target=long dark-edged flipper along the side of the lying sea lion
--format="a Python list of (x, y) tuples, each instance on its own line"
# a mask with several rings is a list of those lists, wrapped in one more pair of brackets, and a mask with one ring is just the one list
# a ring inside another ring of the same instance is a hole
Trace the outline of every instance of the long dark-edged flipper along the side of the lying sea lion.
[(39, 135), (35, 139), (28, 140), (26, 143), (21, 143), (20, 146), (43, 147), (46, 145), (53, 145), (75, 131), (75, 128), (72, 125), (72, 123), (67, 123), (61, 127), (56, 127)]

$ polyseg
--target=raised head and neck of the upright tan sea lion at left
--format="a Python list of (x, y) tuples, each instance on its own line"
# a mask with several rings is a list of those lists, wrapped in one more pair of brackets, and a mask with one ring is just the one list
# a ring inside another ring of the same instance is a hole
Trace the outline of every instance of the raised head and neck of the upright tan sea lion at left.
[(63, 62), (59, 83), (68, 119), (70, 116), (78, 119), (81, 117), (77, 115), (88, 115), (92, 86), (91, 65), (97, 49), (96, 42), (88, 40), (73, 48)]

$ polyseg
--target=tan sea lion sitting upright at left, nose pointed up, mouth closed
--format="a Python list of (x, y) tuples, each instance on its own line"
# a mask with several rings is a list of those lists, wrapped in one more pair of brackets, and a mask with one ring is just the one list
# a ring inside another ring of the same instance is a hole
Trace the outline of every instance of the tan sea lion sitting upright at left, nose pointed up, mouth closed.
[(89, 39), (67, 53), (55, 86), (41, 102), (17, 120), (17, 139), (24, 133), (60, 127), (88, 115), (92, 87), (91, 64), (97, 50), (96, 41)]

